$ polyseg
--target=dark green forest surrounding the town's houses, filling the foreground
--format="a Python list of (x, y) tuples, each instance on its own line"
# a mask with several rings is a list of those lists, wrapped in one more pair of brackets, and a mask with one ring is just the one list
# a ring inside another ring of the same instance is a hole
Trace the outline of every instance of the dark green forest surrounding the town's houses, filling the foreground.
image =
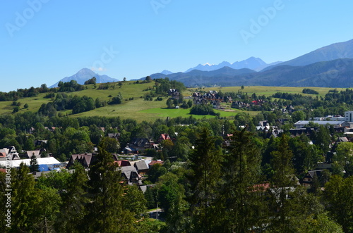
[[(253, 127), (260, 120), (286, 117), (284, 125), (274, 120), (284, 129), (280, 137), (268, 138)], [(97, 162), (88, 171), (77, 164), (74, 172), (50, 172), (35, 180), (24, 165), (11, 170), (11, 229), (3, 221), (2, 232), (353, 230), (352, 142), (337, 143), (342, 133), (325, 126), (293, 137), (289, 132), (293, 121), (287, 113), (251, 117), (244, 112), (233, 120), (190, 117), (136, 122), (48, 118), (26, 112), (1, 115), (0, 122), (0, 147), (29, 151), (35, 149), (35, 140), (46, 139), (47, 144), (40, 147), (61, 161), (99, 148)], [(111, 154), (120, 150), (109, 147), (107, 138), (112, 132), (119, 132), (121, 149), (132, 139), (157, 141), (160, 134), (171, 135), (171, 140), (161, 142), (160, 150), (145, 151), (164, 160), (145, 176), (143, 184), (155, 184), (145, 194), (136, 186), (119, 183), (121, 174)], [(324, 162), (331, 168), (316, 176), (311, 187), (303, 187), (300, 182), (306, 173)], [(1, 176), (4, 180), (5, 173)], [(6, 189), (4, 185), (1, 182), (1, 190)], [(4, 203), (6, 196), (1, 199)], [(146, 214), (157, 203), (164, 211), (158, 221)]]

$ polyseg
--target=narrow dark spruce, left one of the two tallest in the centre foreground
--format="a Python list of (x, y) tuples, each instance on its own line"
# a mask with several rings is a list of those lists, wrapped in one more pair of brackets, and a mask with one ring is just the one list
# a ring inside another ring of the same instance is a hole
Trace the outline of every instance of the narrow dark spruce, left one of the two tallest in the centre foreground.
[(195, 232), (212, 232), (217, 222), (214, 218), (217, 184), (220, 182), (222, 153), (215, 146), (216, 138), (203, 128), (196, 139), (196, 147), (189, 156), (191, 175), (191, 213)]

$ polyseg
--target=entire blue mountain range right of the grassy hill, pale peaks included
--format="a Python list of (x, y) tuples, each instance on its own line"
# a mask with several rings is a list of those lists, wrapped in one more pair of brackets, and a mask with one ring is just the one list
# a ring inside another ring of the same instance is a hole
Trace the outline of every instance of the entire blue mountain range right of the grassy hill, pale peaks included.
[(266, 64), (260, 58), (251, 57), (233, 64), (198, 65), (185, 73), (164, 72), (150, 76), (154, 79), (166, 75), (171, 80), (183, 82), (187, 87), (353, 87), (353, 39), (324, 46), (282, 63)]

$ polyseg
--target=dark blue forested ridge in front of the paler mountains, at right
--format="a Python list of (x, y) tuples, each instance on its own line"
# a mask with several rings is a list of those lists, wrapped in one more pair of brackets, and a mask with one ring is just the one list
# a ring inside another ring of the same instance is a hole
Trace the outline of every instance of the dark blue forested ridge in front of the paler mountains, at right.
[(340, 58), (304, 66), (278, 65), (255, 72), (224, 67), (213, 71), (192, 70), (170, 75), (153, 74), (152, 78), (169, 77), (187, 87), (205, 86), (272, 86), (272, 87), (353, 87), (353, 59)]

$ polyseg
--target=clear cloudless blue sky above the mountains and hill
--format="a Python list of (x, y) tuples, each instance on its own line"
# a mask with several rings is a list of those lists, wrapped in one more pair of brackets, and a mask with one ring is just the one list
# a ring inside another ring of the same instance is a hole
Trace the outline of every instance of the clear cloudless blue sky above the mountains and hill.
[(353, 39), (352, 8), (349, 0), (2, 1), (0, 92), (50, 86), (81, 68), (130, 80), (251, 56), (287, 61)]

